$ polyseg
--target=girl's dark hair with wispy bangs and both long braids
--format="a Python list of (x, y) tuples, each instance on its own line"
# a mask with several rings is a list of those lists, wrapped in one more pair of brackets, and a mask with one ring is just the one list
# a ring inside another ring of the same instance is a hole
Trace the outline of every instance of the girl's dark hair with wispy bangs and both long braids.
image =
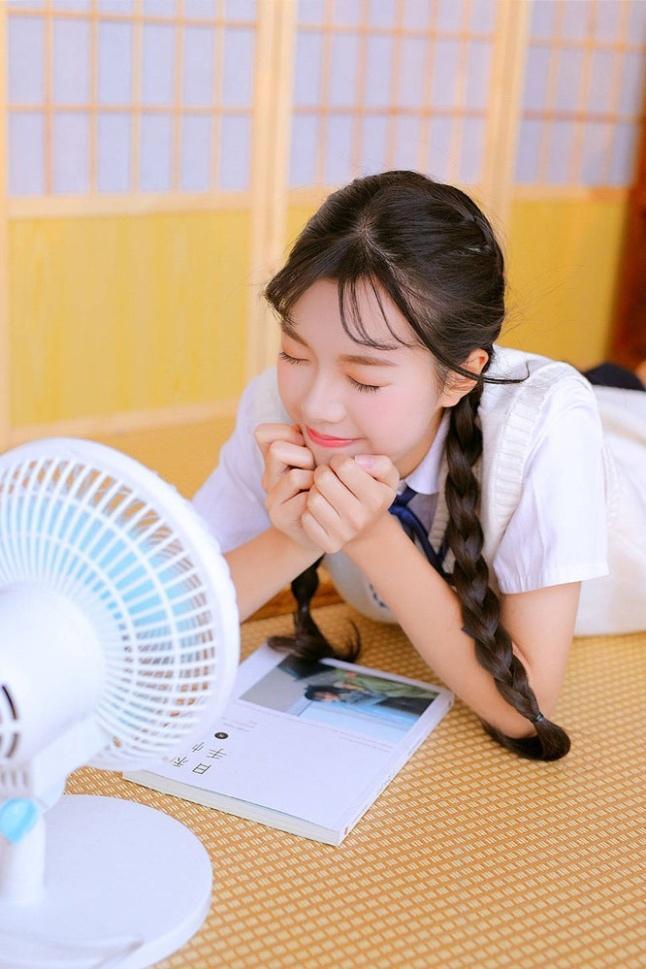
[[(476, 381), (450, 410), (446, 438), (445, 497), (449, 512), (446, 541), (453, 552), (455, 588), (462, 607), (463, 629), (475, 640), (478, 662), (498, 691), (534, 724), (536, 735), (508, 737), (482, 721), (498, 743), (523, 757), (557, 760), (570, 749), (565, 731), (540, 712), (521, 660), (500, 622), (500, 602), (489, 586), (482, 555), (484, 535), (478, 517), (480, 483), (474, 466), (482, 453), (478, 408), (484, 383), (522, 383), (486, 376), (505, 318), (505, 274), (500, 246), (487, 218), (460, 189), (435, 182), (418, 172), (391, 171), (357, 178), (333, 192), (308, 221), (285, 266), (270, 280), (265, 297), (289, 327), (290, 311), (318, 279), (334, 279), (346, 333), (362, 346), (387, 349), (372, 340), (362, 325), (356, 285), (368, 282), (388, 324), (379, 287), (409, 323), (417, 344), (435, 358), (442, 382), (451, 372)], [(349, 327), (346, 301), (356, 327)], [(483, 348), (489, 359), (476, 374), (461, 364)], [(297, 602), (294, 635), (273, 636), (269, 645), (295, 657), (315, 661), (336, 657), (355, 662), (361, 651), (359, 630), (345, 650), (335, 649), (310, 614), (318, 586), (321, 559), (291, 584)]]

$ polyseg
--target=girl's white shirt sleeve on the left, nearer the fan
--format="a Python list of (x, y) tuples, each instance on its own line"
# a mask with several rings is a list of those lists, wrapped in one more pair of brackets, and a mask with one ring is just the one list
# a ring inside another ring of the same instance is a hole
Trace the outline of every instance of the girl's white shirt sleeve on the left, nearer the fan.
[(262, 487), (264, 462), (254, 437), (254, 396), (258, 378), (245, 388), (231, 437), (220, 450), (219, 463), (192, 499), (192, 505), (228, 552), (271, 525)]

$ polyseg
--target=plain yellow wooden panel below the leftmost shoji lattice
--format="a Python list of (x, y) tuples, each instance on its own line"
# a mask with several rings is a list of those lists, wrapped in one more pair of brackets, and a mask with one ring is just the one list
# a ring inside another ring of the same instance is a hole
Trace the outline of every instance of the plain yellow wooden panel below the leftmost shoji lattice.
[(13, 426), (237, 396), (249, 246), (245, 212), (13, 222)]

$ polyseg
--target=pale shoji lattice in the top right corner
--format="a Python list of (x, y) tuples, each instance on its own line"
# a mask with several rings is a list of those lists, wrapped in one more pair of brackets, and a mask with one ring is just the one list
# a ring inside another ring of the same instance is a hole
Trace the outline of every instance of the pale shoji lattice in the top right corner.
[(643, 0), (534, 0), (518, 186), (629, 185), (645, 65)]

